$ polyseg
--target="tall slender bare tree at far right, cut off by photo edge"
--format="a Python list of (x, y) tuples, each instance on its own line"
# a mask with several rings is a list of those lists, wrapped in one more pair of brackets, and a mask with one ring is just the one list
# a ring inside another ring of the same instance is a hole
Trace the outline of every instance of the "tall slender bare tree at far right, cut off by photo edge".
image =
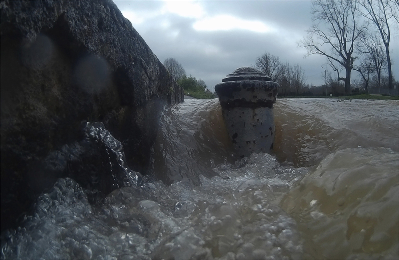
[(359, 3), (364, 7), (364, 10), (361, 10), (360, 13), (375, 24), (381, 35), (381, 39), (385, 46), (385, 53), (387, 55), (388, 85), (389, 88), (392, 89), (392, 69), (389, 50), (391, 31), (389, 21), (392, 18), (398, 21), (397, 12), (395, 10), (398, 1), (364, 0), (359, 1)]

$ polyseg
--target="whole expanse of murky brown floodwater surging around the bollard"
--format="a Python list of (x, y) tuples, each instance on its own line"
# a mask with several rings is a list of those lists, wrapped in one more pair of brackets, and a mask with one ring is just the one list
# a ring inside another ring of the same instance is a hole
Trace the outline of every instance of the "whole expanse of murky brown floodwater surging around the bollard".
[[(274, 154), (238, 159), (217, 99), (165, 110), (156, 181), (90, 205), (59, 179), (2, 259), (398, 259), (398, 101), (278, 99)], [(121, 157), (122, 158), (122, 157)]]

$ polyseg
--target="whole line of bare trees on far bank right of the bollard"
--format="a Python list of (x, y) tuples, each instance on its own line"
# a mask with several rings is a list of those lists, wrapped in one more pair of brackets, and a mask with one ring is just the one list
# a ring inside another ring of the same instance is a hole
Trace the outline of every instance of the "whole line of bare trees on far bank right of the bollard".
[[(392, 74), (392, 64), (397, 57), (391, 60), (390, 41), (397, 36), (398, 12), (398, 0), (312, 1), (312, 25), (298, 46), (307, 50), (305, 57), (316, 54), (326, 58), (327, 63), (320, 65), (325, 71), (327, 90), (306, 88), (299, 65), (283, 64), (269, 52), (256, 59), (255, 67), (280, 84), (281, 95), (318, 95), (323, 91), (341, 95), (342, 85), (336, 81), (344, 84), (346, 95), (372, 88), (388, 88), (390, 93), (396, 93), (398, 82)], [(359, 73), (358, 78), (352, 77), (353, 71)]]

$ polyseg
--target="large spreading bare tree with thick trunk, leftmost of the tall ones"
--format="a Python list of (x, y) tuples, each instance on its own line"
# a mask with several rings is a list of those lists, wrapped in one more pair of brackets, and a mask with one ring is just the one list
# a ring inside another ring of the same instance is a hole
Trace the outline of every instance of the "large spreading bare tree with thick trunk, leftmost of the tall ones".
[[(351, 71), (353, 68), (354, 44), (364, 32), (365, 25), (359, 25), (355, 1), (316, 0), (312, 5), (313, 25), (307, 37), (299, 43), (308, 53), (327, 57), (329, 65), (337, 72), (337, 80), (345, 82), (345, 92), (351, 89)], [(320, 26), (327, 24), (324, 29)], [(341, 69), (345, 77), (340, 77)]]

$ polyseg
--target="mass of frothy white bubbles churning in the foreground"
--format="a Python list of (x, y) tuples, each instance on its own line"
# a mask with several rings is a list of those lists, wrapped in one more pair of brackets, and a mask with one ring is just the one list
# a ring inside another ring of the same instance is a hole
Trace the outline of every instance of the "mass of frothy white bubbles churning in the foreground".
[[(221, 164), (219, 171), (230, 178), (202, 176), (200, 186), (186, 181), (171, 186), (150, 183), (113, 162), (126, 178), (113, 171), (116, 182), (123, 180), (120, 186), (124, 187), (111, 192), (104, 205), (91, 208), (78, 184), (61, 180), (41, 202), (47, 210), (42, 221), (51, 223), (56, 232), (37, 226), (35, 230), (43, 232), (42, 238), (64, 242), (51, 253), (53, 258), (300, 258), (302, 245), (295, 222), (278, 206), (278, 194), (286, 189), (287, 180), (273, 177), (279, 168), (270, 156), (257, 155), (241, 168)], [(27, 256), (41, 257), (33, 250)]]

